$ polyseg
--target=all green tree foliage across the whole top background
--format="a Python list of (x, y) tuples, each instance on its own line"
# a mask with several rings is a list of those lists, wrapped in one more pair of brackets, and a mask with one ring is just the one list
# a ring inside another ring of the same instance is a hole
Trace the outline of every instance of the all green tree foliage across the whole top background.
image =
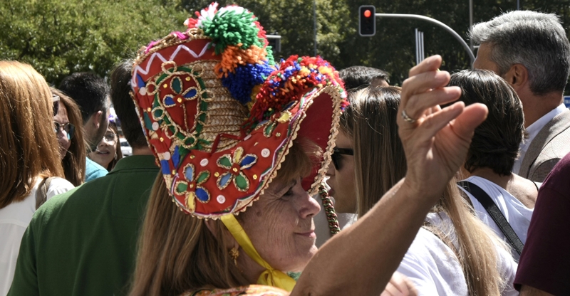
[[(254, 12), (268, 34), (281, 35), (281, 52), (314, 56), (314, 14), (317, 14), (317, 52), (337, 69), (369, 65), (387, 70), (390, 84), (401, 85), (415, 65), (414, 29), (424, 32), (425, 56), (440, 54), (442, 70), (470, 67), (460, 43), (442, 28), (425, 21), (377, 19), (376, 35), (358, 36), (358, 6), (373, 4), (378, 13), (420, 14), (442, 21), (467, 43), (469, 1), (449, 0), (220, 0), (219, 6), (238, 4)], [(0, 3), (0, 58), (33, 65), (51, 83), (69, 73), (94, 71), (107, 75), (140, 46), (176, 30), (212, 0), (11, 0)], [(474, 23), (488, 21), (517, 8), (517, 0), (473, 1)], [(144, 3), (144, 4), (143, 4)], [(568, 0), (520, 1), (522, 9), (558, 14), (570, 32)], [(570, 94), (570, 87), (566, 88)]]

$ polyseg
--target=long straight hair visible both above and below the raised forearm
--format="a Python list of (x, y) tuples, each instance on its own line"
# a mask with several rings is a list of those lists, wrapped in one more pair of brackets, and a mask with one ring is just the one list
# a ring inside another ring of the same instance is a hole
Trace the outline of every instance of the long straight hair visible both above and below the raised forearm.
[[(354, 143), (358, 215), (362, 216), (405, 176), (405, 154), (396, 125), (400, 88), (365, 88), (349, 100), (341, 127)], [(455, 179), (447, 184), (432, 212), (446, 213), (452, 221), (457, 248), (452, 233), (442, 233), (429, 224), (425, 228), (454, 250), (470, 295), (499, 295), (504, 280), (498, 270), (496, 248), (504, 248), (504, 243), (475, 216)]]

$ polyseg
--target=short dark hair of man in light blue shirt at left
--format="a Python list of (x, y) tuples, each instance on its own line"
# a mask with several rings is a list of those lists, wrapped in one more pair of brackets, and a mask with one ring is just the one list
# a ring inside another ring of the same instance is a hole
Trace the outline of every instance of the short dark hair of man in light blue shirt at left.
[(105, 80), (98, 75), (86, 72), (73, 73), (61, 81), (58, 89), (79, 105), (83, 124), (98, 111), (107, 114), (109, 88)]

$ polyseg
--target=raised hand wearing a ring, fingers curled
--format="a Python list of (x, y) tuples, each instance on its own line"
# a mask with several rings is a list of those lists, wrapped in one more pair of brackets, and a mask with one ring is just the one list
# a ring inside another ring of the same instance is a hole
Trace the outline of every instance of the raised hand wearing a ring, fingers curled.
[(418, 196), (439, 198), (447, 182), (465, 162), (475, 127), (487, 107), (455, 102), (460, 88), (445, 87), (450, 74), (437, 70), (441, 56), (431, 56), (410, 70), (402, 86), (398, 132), (408, 162), (405, 186)]

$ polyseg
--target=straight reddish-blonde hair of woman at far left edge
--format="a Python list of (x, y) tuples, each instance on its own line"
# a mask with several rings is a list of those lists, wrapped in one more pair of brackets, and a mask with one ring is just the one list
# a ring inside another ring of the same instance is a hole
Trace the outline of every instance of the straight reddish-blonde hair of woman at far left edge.
[(28, 196), (36, 176), (64, 176), (51, 97), (31, 65), (0, 61), (0, 208)]

